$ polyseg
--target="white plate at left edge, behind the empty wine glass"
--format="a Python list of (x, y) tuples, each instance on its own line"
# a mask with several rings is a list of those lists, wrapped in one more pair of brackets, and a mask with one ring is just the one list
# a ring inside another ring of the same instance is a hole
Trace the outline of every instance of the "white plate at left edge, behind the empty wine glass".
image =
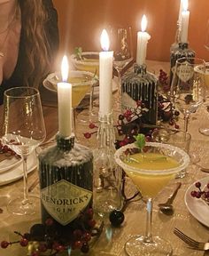
[[(35, 155), (35, 150), (33, 153), (27, 158), (27, 173), (35, 170), (37, 166), (37, 156)], [(15, 180), (19, 180), (23, 177), (22, 164), (19, 166), (13, 167), (8, 172), (0, 173), (0, 186), (11, 183)]]

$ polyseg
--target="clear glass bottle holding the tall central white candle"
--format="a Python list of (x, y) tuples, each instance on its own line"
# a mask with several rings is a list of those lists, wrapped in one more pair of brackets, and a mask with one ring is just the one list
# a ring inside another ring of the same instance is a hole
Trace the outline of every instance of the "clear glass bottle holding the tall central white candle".
[(122, 170), (115, 163), (115, 130), (112, 113), (99, 113), (97, 149), (94, 151), (94, 210), (101, 217), (108, 217), (122, 205)]

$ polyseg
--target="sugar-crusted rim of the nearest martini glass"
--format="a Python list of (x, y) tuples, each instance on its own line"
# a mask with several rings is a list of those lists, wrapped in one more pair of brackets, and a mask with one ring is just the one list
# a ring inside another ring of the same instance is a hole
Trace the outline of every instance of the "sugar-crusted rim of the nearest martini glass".
[(115, 158), (116, 163), (119, 164), (122, 169), (126, 169), (126, 166), (128, 166), (127, 169), (130, 172), (138, 172), (138, 173), (141, 173), (141, 174), (144, 174), (144, 175), (149, 174), (151, 176), (155, 176), (155, 175), (159, 175), (159, 174), (165, 174), (165, 175), (175, 174), (177, 172), (181, 172), (183, 169), (185, 169), (190, 164), (190, 156), (184, 150), (182, 150), (181, 148), (175, 147), (175, 146), (170, 145), (170, 144), (162, 143), (162, 142), (146, 142), (145, 147), (146, 146), (152, 146), (154, 148), (164, 148), (164, 149), (176, 151), (180, 155), (182, 155), (183, 163), (180, 164), (177, 167), (174, 167), (174, 168), (155, 170), (155, 172), (153, 172), (153, 170), (139, 169), (139, 168), (136, 168), (134, 166), (129, 166), (128, 164), (124, 163), (120, 159), (120, 156), (121, 156), (121, 153), (125, 152), (128, 148), (136, 148), (135, 143), (128, 144), (128, 145), (123, 146), (123, 147), (116, 150), (116, 152), (114, 154), (114, 158)]

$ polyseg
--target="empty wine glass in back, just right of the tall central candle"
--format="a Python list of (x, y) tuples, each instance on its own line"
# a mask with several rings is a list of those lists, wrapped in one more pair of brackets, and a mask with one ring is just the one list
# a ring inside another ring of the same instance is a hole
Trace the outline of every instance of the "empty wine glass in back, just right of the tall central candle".
[(113, 51), (113, 68), (118, 76), (118, 98), (116, 103), (121, 104), (121, 76), (133, 59), (133, 42), (131, 27), (110, 28), (110, 48)]

